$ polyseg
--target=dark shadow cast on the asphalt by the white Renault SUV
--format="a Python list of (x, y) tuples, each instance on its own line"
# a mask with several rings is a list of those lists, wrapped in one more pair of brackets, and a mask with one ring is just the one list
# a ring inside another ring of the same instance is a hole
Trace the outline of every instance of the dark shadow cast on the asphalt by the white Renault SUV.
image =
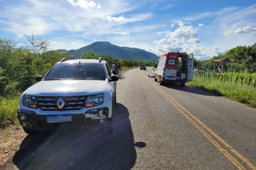
[(13, 157), (19, 169), (131, 169), (137, 158), (129, 111), (117, 104), (114, 133), (102, 129), (27, 135)]

